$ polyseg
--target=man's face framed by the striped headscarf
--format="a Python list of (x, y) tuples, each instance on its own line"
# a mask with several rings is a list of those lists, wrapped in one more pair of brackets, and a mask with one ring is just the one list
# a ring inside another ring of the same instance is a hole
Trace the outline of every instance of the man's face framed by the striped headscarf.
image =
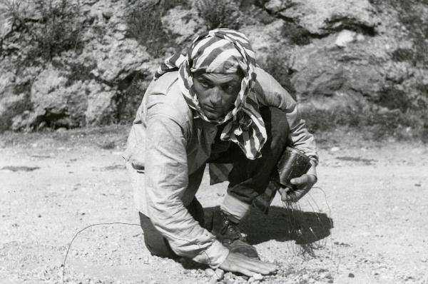
[(238, 73), (195, 73), (193, 86), (205, 116), (218, 120), (234, 108), (243, 79)]

